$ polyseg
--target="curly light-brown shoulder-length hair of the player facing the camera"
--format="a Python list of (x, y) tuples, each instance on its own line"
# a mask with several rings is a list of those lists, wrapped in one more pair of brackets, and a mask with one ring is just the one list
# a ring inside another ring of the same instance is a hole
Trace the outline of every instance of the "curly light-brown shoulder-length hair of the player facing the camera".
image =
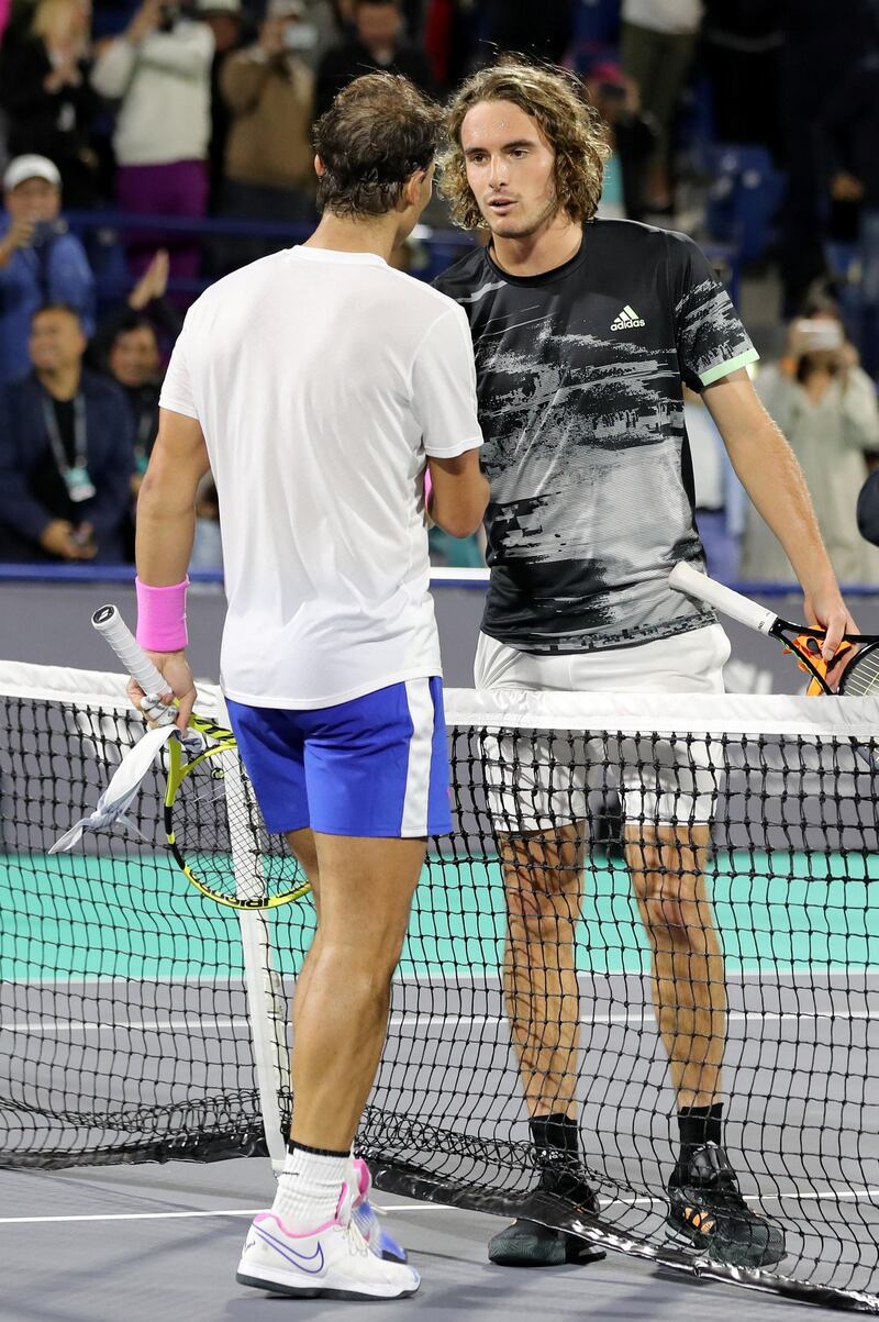
[(465, 230), (485, 225), (467, 182), (461, 124), (482, 100), (510, 100), (537, 120), (555, 152), (555, 190), (560, 210), (572, 221), (591, 221), (601, 196), (604, 161), (611, 155), (599, 112), (572, 74), (554, 65), (538, 65), (521, 56), (501, 56), (459, 87), (448, 107), (448, 140), (440, 153), (440, 192), (448, 198), (452, 219)]

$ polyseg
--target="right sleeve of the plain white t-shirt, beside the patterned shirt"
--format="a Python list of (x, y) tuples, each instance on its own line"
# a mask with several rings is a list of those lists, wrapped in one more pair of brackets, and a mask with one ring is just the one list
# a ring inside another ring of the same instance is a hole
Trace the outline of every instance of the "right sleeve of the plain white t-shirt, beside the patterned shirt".
[(476, 406), (476, 365), (467, 316), (451, 307), (427, 332), (412, 365), (412, 408), (424, 453), (455, 459), (482, 444)]

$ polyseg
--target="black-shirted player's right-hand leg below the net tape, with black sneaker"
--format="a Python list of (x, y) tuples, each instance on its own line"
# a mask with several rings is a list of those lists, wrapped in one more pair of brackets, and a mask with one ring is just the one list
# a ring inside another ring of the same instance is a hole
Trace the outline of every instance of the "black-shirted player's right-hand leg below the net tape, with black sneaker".
[[(653, 752), (661, 760), (660, 750)], [(744, 1202), (723, 1147), (726, 970), (706, 880), (714, 775), (706, 748), (665, 754), (677, 765), (657, 768), (658, 798), (644, 791), (641, 769), (637, 777), (624, 771), (624, 838), (678, 1100), (669, 1227), (719, 1261), (767, 1266), (783, 1256), (784, 1235)], [(636, 760), (649, 764), (644, 755)]]

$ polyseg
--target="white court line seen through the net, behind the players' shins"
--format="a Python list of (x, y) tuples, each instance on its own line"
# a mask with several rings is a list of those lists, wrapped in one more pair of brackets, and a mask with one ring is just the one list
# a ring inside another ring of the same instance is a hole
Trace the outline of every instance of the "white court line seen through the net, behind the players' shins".
[[(645, 1007), (644, 1010), (627, 1010), (623, 1014), (595, 1014), (595, 1015), (580, 1015), (580, 1023), (644, 1023), (645, 1021), (653, 1021), (653, 1013)], [(871, 1021), (879, 1019), (879, 1011), (872, 1010), (802, 1010), (796, 1013), (777, 1013), (775, 1010), (731, 1010), (727, 1014), (727, 1021), (730, 1023), (747, 1023), (751, 1019), (763, 1019), (772, 1023), (781, 1023), (788, 1019), (831, 1019), (831, 1021)], [(390, 1027), (393, 1029), (435, 1029), (443, 1027), (445, 1025), (461, 1025), (464, 1027), (493, 1027), (505, 1025), (509, 1021), (506, 1015), (467, 1015), (467, 1014), (391, 1014)], [(208, 1018), (205, 1015), (197, 1019), (120, 1019), (114, 1023), (98, 1023), (87, 1019), (77, 1019), (74, 1022), (56, 1021), (53, 1023), (44, 1023), (40, 1019), (22, 1019), (16, 1022), (0, 1022), (0, 1032), (29, 1032), (33, 1036), (63, 1036), (65, 1034), (73, 1032), (114, 1032), (119, 1030), (128, 1031), (164, 1031), (164, 1032), (192, 1032), (193, 1030), (208, 1031), (210, 1029), (247, 1029), (247, 1019), (221, 1019), (221, 1018)]]

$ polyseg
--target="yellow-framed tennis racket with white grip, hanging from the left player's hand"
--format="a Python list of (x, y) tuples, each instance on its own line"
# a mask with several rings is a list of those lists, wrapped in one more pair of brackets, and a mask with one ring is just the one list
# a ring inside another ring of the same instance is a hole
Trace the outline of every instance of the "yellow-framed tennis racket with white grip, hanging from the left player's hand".
[[(168, 681), (115, 605), (102, 605), (91, 623), (145, 694), (168, 693)], [(149, 711), (160, 724), (174, 720), (173, 706), (160, 711), (153, 702)], [(301, 899), (311, 886), (283, 838), (266, 829), (234, 734), (196, 713), (188, 728), (201, 736), (201, 747), (196, 742), (188, 750), (176, 738), (168, 743), (163, 816), (177, 867), (202, 895), (230, 908), (267, 910)]]

